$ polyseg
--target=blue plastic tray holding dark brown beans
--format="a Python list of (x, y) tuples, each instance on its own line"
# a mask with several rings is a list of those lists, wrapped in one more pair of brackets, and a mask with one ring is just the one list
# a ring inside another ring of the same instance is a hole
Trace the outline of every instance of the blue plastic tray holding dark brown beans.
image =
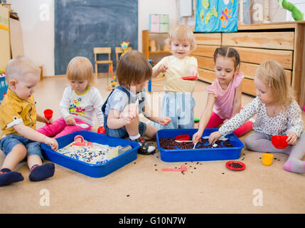
[[(210, 160), (234, 160), (240, 158), (240, 153), (245, 145), (234, 134), (226, 135), (228, 141), (233, 147), (225, 148), (202, 148), (202, 149), (177, 149), (166, 150), (160, 147), (160, 138), (175, 138), (177, 135), (190, 135), (197, 132), (198, 129), (164, 129), (156, 133), (157, 145), (160, 150), (161, 160), (164, 162), (194, 162)], [(203, 131), (203, 137), (210, 135), (216, 128), (206, 128)]]

